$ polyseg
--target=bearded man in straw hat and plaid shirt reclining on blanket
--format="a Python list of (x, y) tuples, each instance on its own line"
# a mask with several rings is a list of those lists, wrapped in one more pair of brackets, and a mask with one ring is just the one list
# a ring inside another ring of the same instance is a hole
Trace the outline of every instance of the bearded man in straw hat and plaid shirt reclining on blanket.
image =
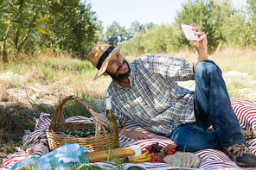
[[(182, 150), (204, 148), (223, 150), (240, 167), (256, 167), (256, 155), (245, 145), (240, 123), (230, 104), (221, 70), (208, 60), (207, 36), (191, 23), (198, 35), (190, 41), (195, 47), (194, 61), (149, 55), (128, 63), (119, 53), (123, 43), (111, 47), (98, 42), (87, 59), (101, 75), (112, 77), (106, 98), (119, 133), (134, 139), (147, 139), (142, 133), (122, 129), (131, 118), (145, 129), (170, 136)], [(176, 81), (195, 79), (195, 91)], [(214, 133), (206, 130), (213, 125)]]

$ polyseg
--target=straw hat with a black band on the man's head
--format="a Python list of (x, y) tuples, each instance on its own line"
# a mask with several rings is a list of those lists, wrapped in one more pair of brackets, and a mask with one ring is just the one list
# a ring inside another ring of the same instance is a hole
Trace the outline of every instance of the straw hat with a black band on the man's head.
[(124, 41), (119, 43), (117, 47), (112, 47), (109, 44), (100, 41), (96, 43), (96, 46), (93, 47), (87, 55), (87, 60), (89, 60), (93, 66), (99, 70), (93, 80), (98, 79), (103, 72), (106, 71), (106, 67), (108, 66), (113, 54), (119, 52), (124, 43)]

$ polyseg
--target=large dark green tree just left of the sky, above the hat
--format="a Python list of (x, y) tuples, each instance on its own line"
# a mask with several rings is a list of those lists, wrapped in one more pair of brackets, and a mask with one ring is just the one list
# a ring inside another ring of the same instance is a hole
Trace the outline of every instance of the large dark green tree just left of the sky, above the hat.
[[(42, 11), (49, 16), (51, 26), (38, 43), (41, 48), (53, 48), (59, 53), (72, 54), (85, 59), (86, 54), (99, 41), (101, 22), (97, 20), (90, 3), (80, 0), (45, 0)], [(44, 43), (47, 42), (47, 43)]]

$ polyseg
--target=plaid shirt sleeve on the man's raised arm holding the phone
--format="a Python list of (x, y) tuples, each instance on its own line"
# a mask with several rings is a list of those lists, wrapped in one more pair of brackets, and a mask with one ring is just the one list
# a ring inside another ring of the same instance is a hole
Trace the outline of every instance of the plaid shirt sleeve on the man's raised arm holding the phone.
[(161, 75), (164, 79), (174, 81), (188, 81), (195, 79), (193, 61), (165, 57), (159, 55), (148, 55), (144, 59), (144, 65), (155, 74)]

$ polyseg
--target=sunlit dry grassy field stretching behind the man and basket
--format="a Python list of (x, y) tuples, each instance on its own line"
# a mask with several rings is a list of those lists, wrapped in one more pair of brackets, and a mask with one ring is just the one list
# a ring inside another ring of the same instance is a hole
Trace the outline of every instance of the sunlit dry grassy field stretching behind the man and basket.
[[(195, 56), (191, 52), (162, 55), (187, 60)], [(131, 62), (139, 57), (142, 56), (126, 59)], [(230, 97), (256, 102), (256, 51), (229, 48), (210, 54), (209, 58), (221, 67)], [(0, 163), (7, 154), (15, 152), (14, 147), (22, 144), (25, 129), (34, 131), (34, 116), (41, 112), (52, 115), (66, 96), (83, 98), (98, 112), (105, 110), (103, 99), (112, 79), (102, 77), (93, 81), (96, 72), (87, 60), (51, 53), (32, 60), (0, 63)], [(179, 84), (190, 90), (195, 88), (194, 81)], [(66, 117), (90, 116), (83, 106), (72, 101), (63, 110)]]

